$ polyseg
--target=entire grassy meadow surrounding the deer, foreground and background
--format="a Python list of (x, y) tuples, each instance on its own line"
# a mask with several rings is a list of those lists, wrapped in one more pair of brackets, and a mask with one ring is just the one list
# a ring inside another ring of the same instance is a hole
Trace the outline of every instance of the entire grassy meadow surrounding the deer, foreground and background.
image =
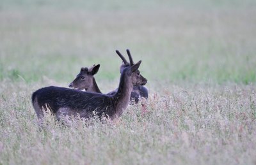
[[(256, 2), (0, 0), (0, 164), (256, 164)], [(70, 126), (31, 94), (100, 64), (118, 86), (130, 48), (148, 112)]]

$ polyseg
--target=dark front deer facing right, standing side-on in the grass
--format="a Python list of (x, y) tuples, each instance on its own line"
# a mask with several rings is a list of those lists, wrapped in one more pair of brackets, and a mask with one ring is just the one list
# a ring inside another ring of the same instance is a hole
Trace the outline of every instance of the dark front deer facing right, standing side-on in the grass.
[[(119, 56), (124, 58), (122, 55)], [(141, 61), (123, 69), (118, 90), (111, 96), (52, 86), (36, 90), (32, 95), (32, 103), (37, 117), (44, 117), (46, 108), (49, 108), (58, 119), (65, 115), (81, 118), (97, 115), (112, 120), (120, 117), (129, 104), (133, 85), (147, 83), (147, 79), (138, 74), (140, 64)]]

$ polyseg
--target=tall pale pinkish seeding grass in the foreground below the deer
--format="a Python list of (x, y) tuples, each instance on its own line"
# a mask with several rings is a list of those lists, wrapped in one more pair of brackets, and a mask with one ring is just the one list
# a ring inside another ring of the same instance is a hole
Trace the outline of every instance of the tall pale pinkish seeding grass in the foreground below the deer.
[[(254, 85), (172, 85), (151, 92), (147, 112), (129, 106), (115, 122), (40, 130), (24, 83), (4, 89), (1, 164), (254, 164)], [(7, 92), (8, 90), (8, 92)]]

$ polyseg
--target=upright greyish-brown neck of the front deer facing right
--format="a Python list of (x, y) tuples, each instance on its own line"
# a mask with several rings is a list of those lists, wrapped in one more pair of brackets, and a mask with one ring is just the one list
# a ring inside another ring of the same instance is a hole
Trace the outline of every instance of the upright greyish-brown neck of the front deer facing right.
[(120, 116), (122, 111), (125, 110), (130, 102), (132, 92), (132, 80), (130, 77), (121, 75), (118, 90), (113, 96), (114, 104), (116, 107), (116, 115)]

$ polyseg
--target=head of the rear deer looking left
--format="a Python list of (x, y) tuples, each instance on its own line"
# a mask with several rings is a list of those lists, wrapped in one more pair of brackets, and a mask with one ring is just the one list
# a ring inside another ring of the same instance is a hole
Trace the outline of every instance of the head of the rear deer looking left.
[(75, 80), (71, 82), (68, 87), (78, 89), (78, 90), (87, 90), (93, 85), (93, 75), (99, 71), (100, 65), (93, 65), (91, 68), (81, 68), (80, 73), (76, 76)]

